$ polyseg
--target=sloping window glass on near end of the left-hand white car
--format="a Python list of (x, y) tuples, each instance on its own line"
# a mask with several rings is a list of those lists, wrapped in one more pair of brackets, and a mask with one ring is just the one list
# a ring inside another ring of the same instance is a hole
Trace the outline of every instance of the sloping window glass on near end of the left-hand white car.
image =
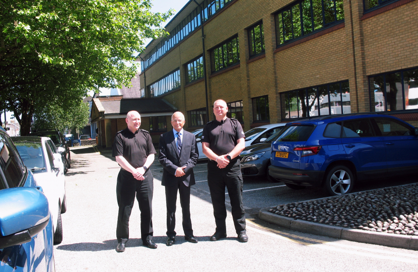
[(15, 142), (23, 164), (32, 172), (45, 172), (45, 155), (41, 143)]

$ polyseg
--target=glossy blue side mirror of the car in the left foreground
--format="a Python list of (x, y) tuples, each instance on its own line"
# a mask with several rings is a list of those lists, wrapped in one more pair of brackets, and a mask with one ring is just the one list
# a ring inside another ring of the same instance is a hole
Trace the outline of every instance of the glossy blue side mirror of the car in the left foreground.
[(0, 248), (30, 242), (48, 225), (48, 200), (35, 188), (0, 190), (0, 207)]

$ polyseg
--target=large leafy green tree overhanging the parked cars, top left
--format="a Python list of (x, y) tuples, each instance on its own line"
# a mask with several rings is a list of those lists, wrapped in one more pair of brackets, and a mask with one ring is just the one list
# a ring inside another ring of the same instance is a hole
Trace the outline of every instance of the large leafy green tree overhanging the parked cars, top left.
[(0, 101), (21, 134), (52, 102), (65, 111), (88, 90), (129, 86), (133, 52), (167, 34), (161, 23), (172, 11), (151, 7), (151, 0), (0, 1)]

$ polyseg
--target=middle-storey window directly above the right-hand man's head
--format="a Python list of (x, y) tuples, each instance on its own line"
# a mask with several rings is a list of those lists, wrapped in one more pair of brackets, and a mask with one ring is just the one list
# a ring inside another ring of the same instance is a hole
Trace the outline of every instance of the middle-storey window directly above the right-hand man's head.
[(211, 50), (212, 72), (240, 62), (238, 37), (232, 38)]

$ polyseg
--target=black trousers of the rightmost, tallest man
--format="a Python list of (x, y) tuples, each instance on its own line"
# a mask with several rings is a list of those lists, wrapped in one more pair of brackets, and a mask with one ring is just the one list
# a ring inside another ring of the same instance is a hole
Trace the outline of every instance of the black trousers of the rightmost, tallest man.
[(244, 186), (239, 160), (232, 161), (227, 167), (219, 169), (217, 162), (207, 162), (207, 184), (211, 191), (212, 205), (216, 223), (216, 232), (226, 233), (227, 210), (225, 206), (225, 186), (231, 200), (232, 218), (237, 234), (246, 232), (245, 211), (242, 203)]

